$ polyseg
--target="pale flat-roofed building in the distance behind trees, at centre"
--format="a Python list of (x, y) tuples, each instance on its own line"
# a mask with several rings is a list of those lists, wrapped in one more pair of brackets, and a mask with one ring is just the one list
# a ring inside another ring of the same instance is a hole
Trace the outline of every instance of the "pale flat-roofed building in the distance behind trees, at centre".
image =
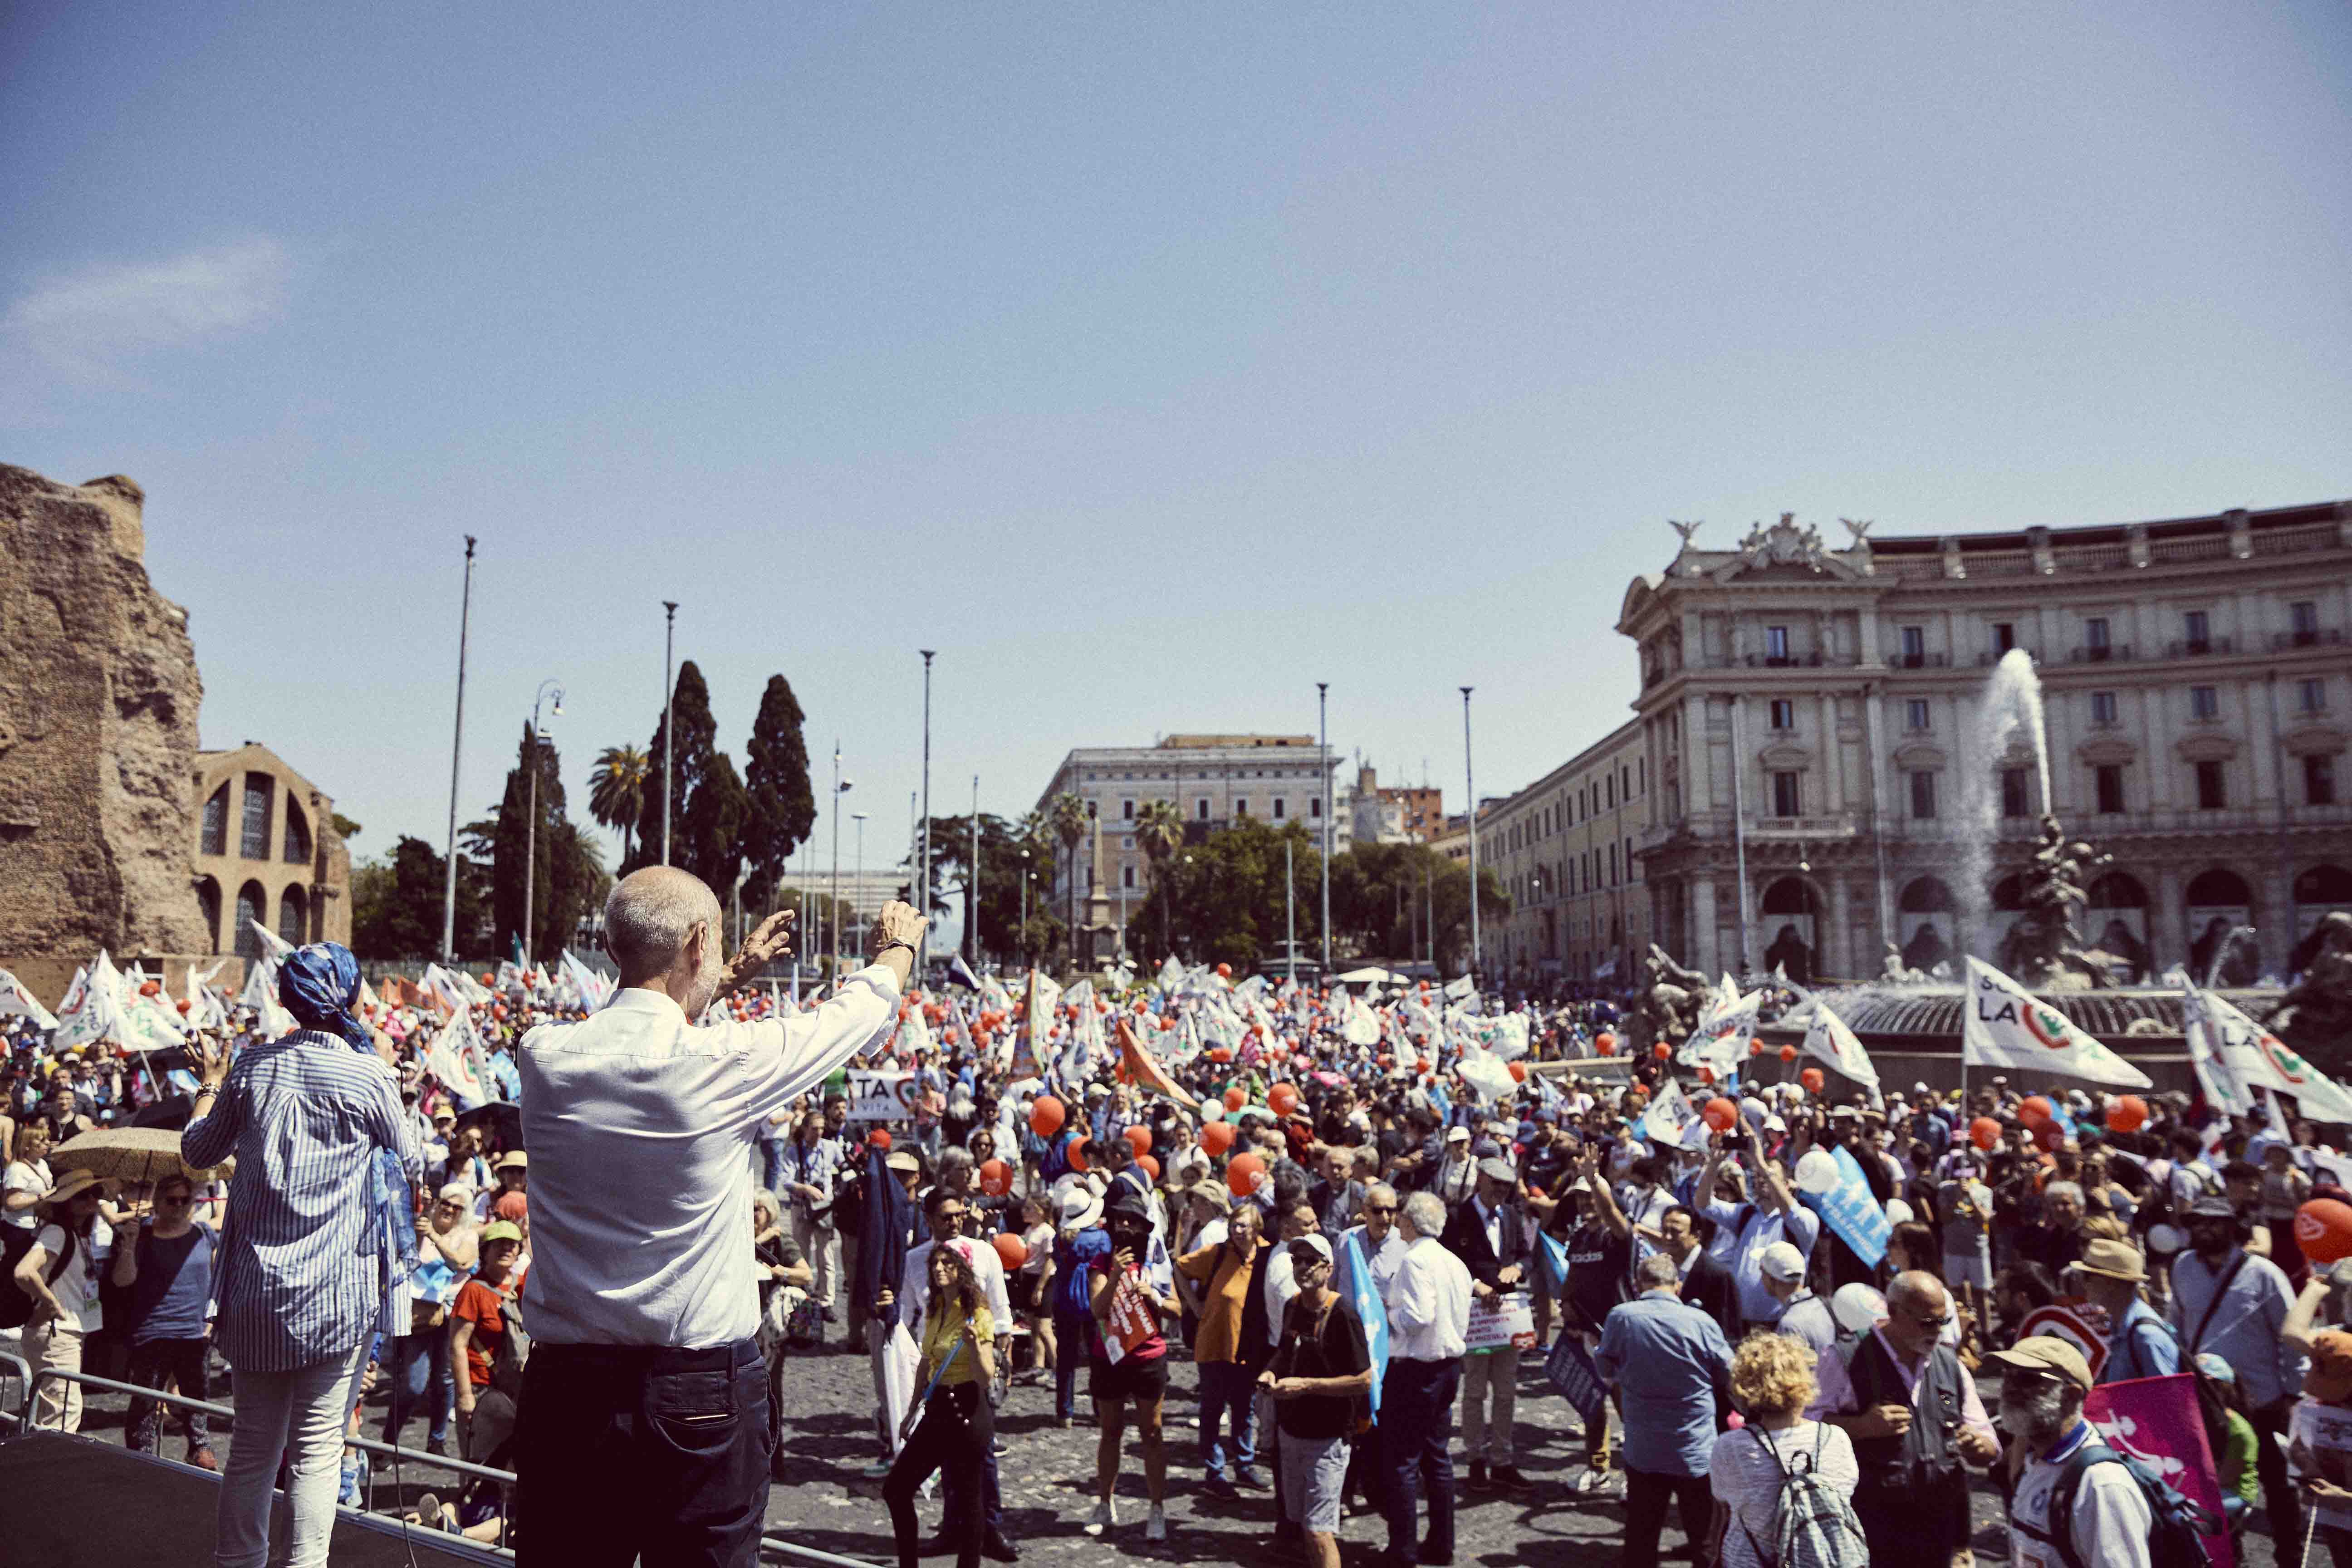
[[(1037, 813), (1063, 792), (1087, 802), (1094, 823), (1075, 856), (1056, 853), (1054, 912), (1068, 919), (1070, 882), (1077, 879), (1077, 926), (1091, 952), (1108, 954), (1127, 929), (1127, 917), (1150, 896), (1150, 856), (1134, 835), (1136, 813), (1148, 802), (1174, 802), (1183, 813), (1185, 842), (1258, 818), (1275, 827), (1305, 823), (1322, 837), (1324, 799), (1336, 752), (1315, 736), (1167, 736), (1157, 745), (1082, 745), (1054, 769), (1037, 797)], [(1352, 842), (1352, 811), (1331, 797), (1331, 853)]]

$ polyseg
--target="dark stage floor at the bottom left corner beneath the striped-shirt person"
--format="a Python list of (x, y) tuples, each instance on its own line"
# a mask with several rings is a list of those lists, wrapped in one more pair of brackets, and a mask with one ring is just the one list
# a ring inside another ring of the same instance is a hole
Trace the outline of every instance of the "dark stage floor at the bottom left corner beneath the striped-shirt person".
[[(200, 1469), (64, 1432), (0, 1441), (0, 1563), (16, 1568), (212, 1568), (221, 1486)], [(270, 1561), (285, 1561), (278, 1497)], [(482, 1568), (503, 1559), (454, 1537), (339, 1509), (334, 1568)]]

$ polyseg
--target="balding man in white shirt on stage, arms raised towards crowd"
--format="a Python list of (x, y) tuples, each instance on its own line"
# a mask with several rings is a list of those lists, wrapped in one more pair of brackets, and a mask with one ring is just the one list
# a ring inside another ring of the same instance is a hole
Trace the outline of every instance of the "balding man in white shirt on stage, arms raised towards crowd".
[(527, 1566), (760, 1556), (771, 1436), (746, 1241), (750, 1145), (797, 1093), (887, 1039), (927, 924), (884, 905), (875, 961), (814, 1011), (691, 1023), (786, 950), (788, 922), (767, 919), (722, 966), (717, 896), (675, 867), (633, 872), (604, 903), (621, 990), (588, 1020), (522, 1039)]

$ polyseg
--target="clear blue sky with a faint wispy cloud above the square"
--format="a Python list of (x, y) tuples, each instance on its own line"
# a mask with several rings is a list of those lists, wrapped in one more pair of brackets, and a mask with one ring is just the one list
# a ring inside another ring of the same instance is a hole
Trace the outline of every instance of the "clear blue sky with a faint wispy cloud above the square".
[(2352, 494), (2347, 16), (24, 0), (0, 461), (146, 487), (205, 743), (360, 853), (442, 837), (468, 531), (466, 816), (546, 675), (576, 799), (652, 733), (663, 597), (870, 858), (917, 646), (938, 811), (1317, 679), (1458, 806), (1458, 684), (1486, 792), (1625, 717), (1668, 517)]

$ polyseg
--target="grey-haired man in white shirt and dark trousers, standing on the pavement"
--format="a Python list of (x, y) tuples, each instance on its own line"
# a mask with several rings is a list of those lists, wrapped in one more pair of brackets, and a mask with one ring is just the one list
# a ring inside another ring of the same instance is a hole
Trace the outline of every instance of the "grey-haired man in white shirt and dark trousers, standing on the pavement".
[[(1404, 1260), (1388, 1281), (1388, 1375), (1381, 1380), (1381, 1472), (1388, 1559), (1454, 1561), (1454, 1396), (1470, 1333), (1470, 1269), (1437, 1237), (1446, 1206), (1435, 1192), (1404, 1199)], [(1430, 1533), (1416, 1544), (1416, 1493), (1428, 1493)]]

